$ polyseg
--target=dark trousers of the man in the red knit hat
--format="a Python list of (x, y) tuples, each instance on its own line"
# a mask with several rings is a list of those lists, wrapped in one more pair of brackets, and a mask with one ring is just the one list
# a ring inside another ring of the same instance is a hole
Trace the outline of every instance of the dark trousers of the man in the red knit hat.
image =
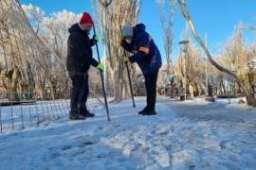
[(71, 110), (86, 109), (86, 101), (89, 93), (88, 74), (82, 72), (69, 71), (68, 75), (72, 80), (70, 97)]

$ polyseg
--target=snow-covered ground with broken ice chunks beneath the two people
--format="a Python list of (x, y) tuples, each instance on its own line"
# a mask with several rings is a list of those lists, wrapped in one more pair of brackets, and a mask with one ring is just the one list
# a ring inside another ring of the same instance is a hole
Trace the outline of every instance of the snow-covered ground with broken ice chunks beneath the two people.
[[(244, 98), (243, 98), (244, 99)], [(245, 99), (244, 99), (245, 100)], [(137, 114), (144, 97), (0, 134), (0, 169), (256, 169), (256, 109), (238, 99), (157, 98), (154, 116)]]

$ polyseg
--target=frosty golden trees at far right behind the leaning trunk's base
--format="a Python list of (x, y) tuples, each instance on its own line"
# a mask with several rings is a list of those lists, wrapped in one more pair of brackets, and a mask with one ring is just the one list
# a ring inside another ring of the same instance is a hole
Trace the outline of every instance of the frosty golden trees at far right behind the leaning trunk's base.
[[(243, 43), (245, 28), (247, 26), (239, 23), (229, 40), (222, 44), (222, 49), (218, 50), (218, 54), (222, 57), (224, 66), (237, 75), (246, 87), (251, 89), (251, 93), (255, 93), (256, 70), (253, 68), (255, 67), (254, 60), (256, 60), (255, 43)], [(234, 82), (234, 79), (232, 81)], [(239, 87), (232, 83), (230, 88), (231, 91), (236, 91)]]

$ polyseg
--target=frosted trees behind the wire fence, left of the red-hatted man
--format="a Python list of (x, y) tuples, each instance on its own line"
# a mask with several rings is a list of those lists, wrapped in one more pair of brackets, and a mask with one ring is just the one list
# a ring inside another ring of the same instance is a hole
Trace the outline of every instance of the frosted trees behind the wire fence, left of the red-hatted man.
[(21, 8), (12, 0), (1, 2), (0, 14), (1, 97), (20, 101), (69, 95), (63, 59), (67, 26), (78, 16), (64, 10), (46, 18), (40, 8)]

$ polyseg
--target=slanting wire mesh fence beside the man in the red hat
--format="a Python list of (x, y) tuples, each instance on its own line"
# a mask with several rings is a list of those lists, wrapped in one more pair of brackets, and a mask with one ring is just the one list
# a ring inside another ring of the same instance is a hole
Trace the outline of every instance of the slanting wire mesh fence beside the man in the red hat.
[[(64, 63), (34, 32), (19, 1), (0, 1), (1, 133), (68, 114), (71, 87)], [(89, 110), (104, 107), (99, 95), (90, 94)]]

